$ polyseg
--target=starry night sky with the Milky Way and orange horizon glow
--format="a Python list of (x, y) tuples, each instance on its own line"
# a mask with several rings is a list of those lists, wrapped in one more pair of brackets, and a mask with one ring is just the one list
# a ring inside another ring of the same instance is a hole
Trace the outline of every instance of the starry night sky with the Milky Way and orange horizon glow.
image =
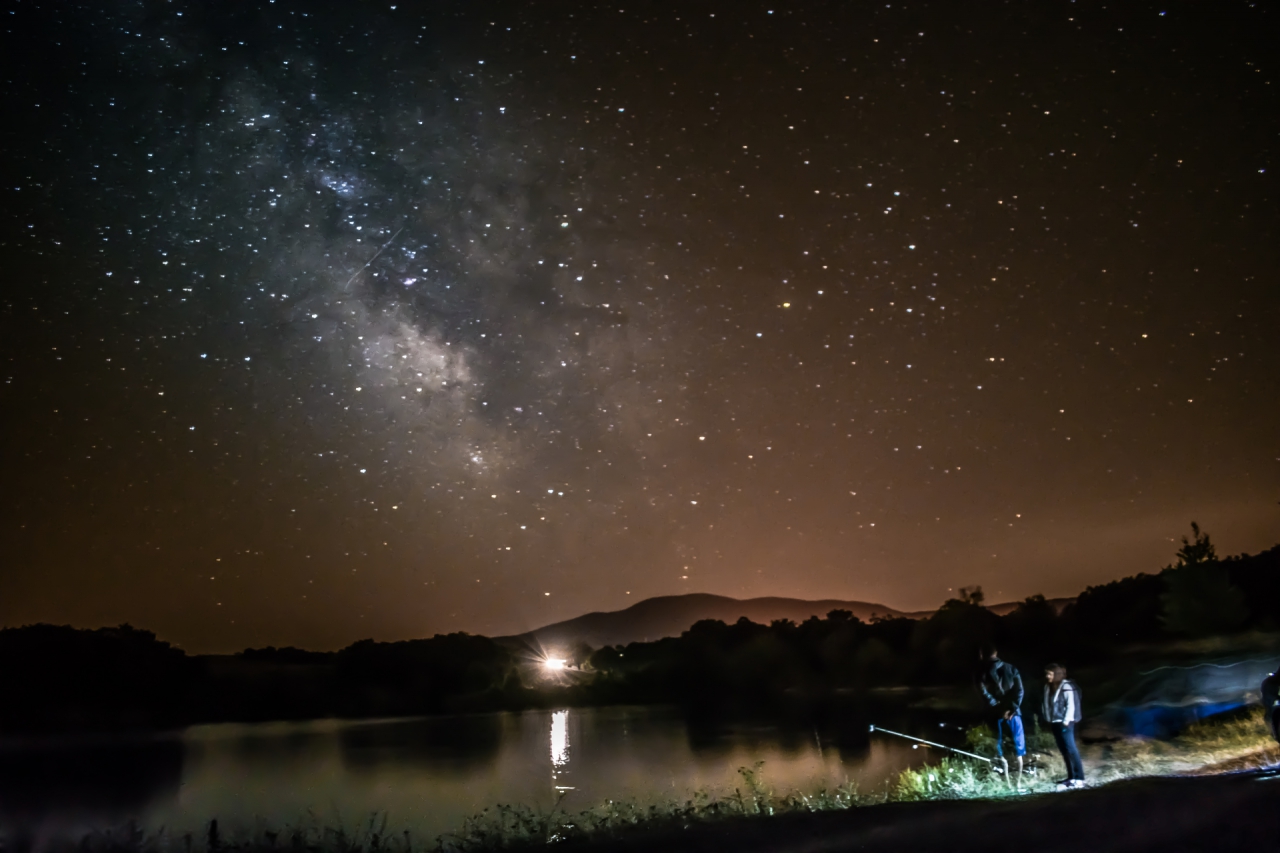
[(337, 648), (1280, 542), (1271, 4), (3, 14), (0, 625)]

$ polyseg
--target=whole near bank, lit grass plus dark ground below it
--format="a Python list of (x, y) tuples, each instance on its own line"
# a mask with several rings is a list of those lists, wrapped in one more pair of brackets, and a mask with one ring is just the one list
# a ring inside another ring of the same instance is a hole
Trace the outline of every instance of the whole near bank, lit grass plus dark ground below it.
[[(972, 747), (982, 749), (978, 733)], [(1034, 775), (1020, 788), (982, 762), (942, 760), (909, 770), (876, 789), (774, 790), (769, 766), (744, 767), (731, 793), (681, 802), (603, 802), (570, 808), (495, 807), (436, 838), (410, 835), (384, 817), (358, 826), (317, 822), (276, 825), (248, 834), (224, 821), (191, 826), (192, 834), (127, 827), (60, 838), (37, 831), (0, 838), (4, 853), (490, 853), (556, 849), (631, 850), (1146, 850), (1267, 849), (1280, 766), (1260, 710), (1190, 726), (1165, 740), (1130, 738), (1087, 744), (1091, 788), (1052, 793), (1056, 758), (1032, 739)], [(1272, 771), (1274, 772), (1274, 771)], [(425, 803), (430, 808), (430, 803)], [(365, 812), (367, 815), (367, 812)], [(215, 815), (210, 815), (214, 817)], [(233, 822), (234, 825), (234, 822)], [(50, 829), (50, 827), (46, 827)], [(244, 827), (247, 830), (247, 827)], [(1009, 840), (1012, 839), (1012, 840)], [(1002, 847), (1006, 844), (1009, 845)], [(1175, 843), (1176, 841), (1176, 843)]]

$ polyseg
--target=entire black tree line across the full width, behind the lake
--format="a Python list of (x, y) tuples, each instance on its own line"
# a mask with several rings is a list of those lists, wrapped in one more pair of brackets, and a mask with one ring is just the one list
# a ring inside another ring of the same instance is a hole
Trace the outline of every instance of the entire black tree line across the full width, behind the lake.
[(1089, 587), (1061, 612), (1032, 596), (1000, 616), (980, 588), (965, 588), (924, 619), (864, 622), (837, 610), (800, 624), (707, 620), (657, 642), (561, 649), (575, 669), (557, 679), (540, 666), (544, 652), (468, 634), (188, 656), (129, 625), (10, 628), (0, 630), (0, 683), (10, 686), (0, 734), (552, 704), (759, 710), (966, 681), (988, 643), (1034, 671), (1050, 660), (1105, 661), (1137, 643), (1280, 630), (1280, 546), (1219, 560), (1193, 524), (1176, 556), (1160, 573)]

